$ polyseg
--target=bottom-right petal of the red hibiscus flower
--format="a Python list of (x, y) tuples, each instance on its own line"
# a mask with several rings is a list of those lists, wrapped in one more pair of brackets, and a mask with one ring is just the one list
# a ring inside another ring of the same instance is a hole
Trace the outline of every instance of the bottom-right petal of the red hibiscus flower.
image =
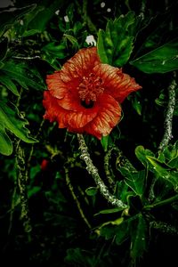
[(100, 106), (100, 110), (97, 116), (85, 125), (85, 132), (101, 139), (102, 135), (108, 135), (117, 125), (121, 117), (121, 108), (112, 96), (105, 93), (100, 96), (97, 104)]

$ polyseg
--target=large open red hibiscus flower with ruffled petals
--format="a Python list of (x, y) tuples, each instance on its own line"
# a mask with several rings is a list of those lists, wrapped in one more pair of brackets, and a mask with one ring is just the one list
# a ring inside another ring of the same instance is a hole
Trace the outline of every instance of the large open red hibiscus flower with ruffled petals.
[(119, 122), (125, 97), (141, 88), (122, 69), (102, 64), (96, 47), (80, 49), (61, 70), (48, 75), (46, 83), (44, 118), (98, 139)]

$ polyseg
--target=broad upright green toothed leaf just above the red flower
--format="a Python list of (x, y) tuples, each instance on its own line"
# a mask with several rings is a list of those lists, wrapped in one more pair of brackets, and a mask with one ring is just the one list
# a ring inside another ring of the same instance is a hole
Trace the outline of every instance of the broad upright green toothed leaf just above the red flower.
[(102, 63), (122, 67), (128, 61), (134, 46), (134, 25), (134, 12), (128, 12), (117, 20), (109, 20), (105, 31), (99, 30), (97, 49)]

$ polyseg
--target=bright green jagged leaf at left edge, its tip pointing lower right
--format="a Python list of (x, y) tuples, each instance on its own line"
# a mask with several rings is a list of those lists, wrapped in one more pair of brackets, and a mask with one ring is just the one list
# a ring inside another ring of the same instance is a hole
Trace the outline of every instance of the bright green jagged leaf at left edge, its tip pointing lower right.
[(4, 125), (4, 129), (8, 129), (15, 134), (20, 140), (28, 143), (37, 142), (35, 138), (29, 136), (29, 130), (26, 128), (28, 121), (20, 117), (20, 112), (16, 106), (8, 106), (0, 101), (0, 123)]

